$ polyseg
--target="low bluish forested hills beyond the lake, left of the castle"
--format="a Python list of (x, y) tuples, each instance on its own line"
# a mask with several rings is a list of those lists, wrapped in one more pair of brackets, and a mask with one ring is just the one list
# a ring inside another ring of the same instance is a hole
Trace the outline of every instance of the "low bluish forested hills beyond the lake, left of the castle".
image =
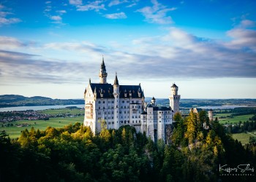
[(41, 96), (28, 98), (22, 95), (0, 95), (0, 108), (16, 106), (72, 105), (83, 103), (83, 99), (52, 99)]

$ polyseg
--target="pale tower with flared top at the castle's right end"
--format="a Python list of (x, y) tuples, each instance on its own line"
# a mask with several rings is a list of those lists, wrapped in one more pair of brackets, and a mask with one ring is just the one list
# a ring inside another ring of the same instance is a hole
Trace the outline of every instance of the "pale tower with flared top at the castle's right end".
[(173, 84), (172, 87), (170, 87), (170, 107), (173, 109), (174, 114), (179, 112), (179, 100), (181, 99), (181, 95), (178, 95), (178, 87), (176, 84)]

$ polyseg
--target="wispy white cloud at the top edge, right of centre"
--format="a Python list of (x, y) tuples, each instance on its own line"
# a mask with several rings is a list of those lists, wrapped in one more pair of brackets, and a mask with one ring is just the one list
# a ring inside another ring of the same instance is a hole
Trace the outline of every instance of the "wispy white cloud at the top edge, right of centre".
[(170, 24), (173, 23), (173, 20), (170, 16), (167, 16), (167, 12), (176, 10), (176, 7), (167, 8), (166, 6), (160, 4), (157, 0), (151, 0), (152, 7), (143, 7), (138, 9), (137, 12), (146, 18), (146, 21), (149, 23), (158, 23), (158, 24)]

